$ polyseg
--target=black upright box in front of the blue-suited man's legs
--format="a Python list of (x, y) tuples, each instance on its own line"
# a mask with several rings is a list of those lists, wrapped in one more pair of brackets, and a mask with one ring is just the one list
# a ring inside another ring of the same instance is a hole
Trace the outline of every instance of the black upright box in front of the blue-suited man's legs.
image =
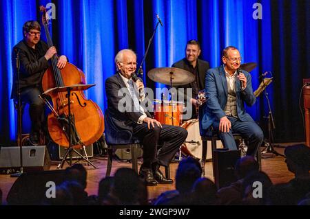
[(214, 181), (218, 189), (237, 180), (234, 169), (238, 159), (240, 159), (240, 150), (214, 150)]

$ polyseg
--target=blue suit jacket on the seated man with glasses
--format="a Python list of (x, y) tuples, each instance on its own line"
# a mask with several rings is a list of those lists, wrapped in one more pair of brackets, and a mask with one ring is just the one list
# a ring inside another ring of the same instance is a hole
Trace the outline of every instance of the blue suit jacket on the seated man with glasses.
[[(240, 89), (240, 80), (236, 78), (237, 113), (242, 122), (253, 121), (251, 116), (245, 112), (245, 104), (253, 106), (256, 97), (253, 93), (251, 75), (242, 70), (247, 77), (247, 87), (244, 91)], [(224, 65), (209, 69), (205, 78), (205, 92), (207, 102), (201, 121), (203, 130), (207, 130), (215, 121), (219, 121), (225, 116), (225, 106), (227, 103), (227, 80)]]

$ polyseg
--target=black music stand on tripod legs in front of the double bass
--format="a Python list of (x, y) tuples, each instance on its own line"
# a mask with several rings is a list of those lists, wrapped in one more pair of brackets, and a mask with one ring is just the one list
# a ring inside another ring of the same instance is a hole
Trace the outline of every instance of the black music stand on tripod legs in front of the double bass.
[(72, 84), (70, 86), (65, 86), (65, 87), (54, 87), (52, 89), (48, 89), (48, 91), (45, 91), (43, 94), (48, 94), (50, 92), (67, 92), (68, 95), (68, 132), (69, 132), (69, 148), (67, 150), (67, 152), (65, 152), (65, 156), (63, 156), (63, 159), (61, 160), (61, 163), (59, 163), (59, 165), (57, 166), (57, 170), (59, 170), (59, 168), (63, 168), (63, 164), (65, 163), (65, 159), (67, 159), (68, 155), (69, 155), (69, 159), (70, 159), (70, 166), (72, 165), (72, 151), (75, 152), (76, 154), (78, 154), (83, 160), (87, 161), (87, 163), (89, 163), (90, 165), (92, 165), (95, 169), (96, 166), (90, 162), (87, 158), (87, 154), (85, 152), (85, 146), (83, 145), (84, 148), (84, 152), (86, 155), (86, 158), (78, 151), (76, 151), (74, 148), (72, 148), (72, 136), (71, 136), (71, 100), (70, 100), (70, 95), (71, 95), (71, 91), (84, 91), (89, 89), (90, 87), (94, 87), (95, 84)]

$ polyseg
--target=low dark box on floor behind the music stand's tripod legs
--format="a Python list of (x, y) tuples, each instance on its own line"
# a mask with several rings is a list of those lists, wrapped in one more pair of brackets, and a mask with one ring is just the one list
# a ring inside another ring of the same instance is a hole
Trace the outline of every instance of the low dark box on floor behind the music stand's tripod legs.
[[(65, 148), (63, 146), (59, 146), (56, 143), (50, 143), (48, 146), (48, 152), (50, 153), (50, 158), (52, 161), (59, 161), (63, 159), (65, 156), (65, 152), (67, 152), (68, 148)], [(77, 152), (85, 156), (83, 149), (76, 149)], [(94, 157), (94, 150), (92, 144), (90, 146), (85, 146), (85, 151), (87, 153), (87, 157)], [(69, 159), (69, 155), (67, 159)], [(72, 152), (72, 159), (79, 159), (81, 158), (76, 152)]]

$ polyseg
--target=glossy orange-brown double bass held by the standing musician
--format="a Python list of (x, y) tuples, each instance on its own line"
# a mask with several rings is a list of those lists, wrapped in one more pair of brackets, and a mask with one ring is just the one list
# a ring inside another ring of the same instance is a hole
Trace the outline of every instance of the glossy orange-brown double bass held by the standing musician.
[[(52, 38), (48, 30), (46, 9), (40, 7), (42, 23), (48, 41), (52, 47)], [(74, 84), (85, 84), (83, 71), (67, 62), (63, 69), (59, 69), (56, 54), (51, 58), (52, 65), (45, 71), (42, 79), (43, 91), (58, 87), (70, 87)], [(104, 131), (104, 118), (101, 108), (92, 100), (87, 100), (83, 91), (57, 92), (57, 89), (48, 93), (52, 99), (52, 113), (48, 115), (48, 132), (52, 140), (63, 147), (81, 148), (97, 141)], [(70, 109), (69, 109), (70, 106)], [(69, 115), (70, 111), (70, 115)], [(70, 128), (69, 128), (70, 126)], [(71, 130), (68, 132), (68, 130)], [(70, 140), (71, 143), (70, 143)]]

